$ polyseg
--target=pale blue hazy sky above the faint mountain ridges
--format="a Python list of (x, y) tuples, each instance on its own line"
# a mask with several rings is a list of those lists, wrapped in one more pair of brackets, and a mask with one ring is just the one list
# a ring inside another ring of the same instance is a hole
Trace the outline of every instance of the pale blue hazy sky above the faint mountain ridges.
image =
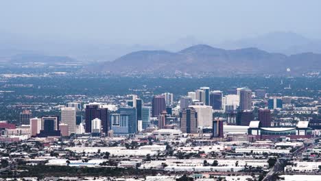
[(1, 1), (0, 36), (166, 43), (235, 40), (274, 31), (321, 38), (321, 1)]

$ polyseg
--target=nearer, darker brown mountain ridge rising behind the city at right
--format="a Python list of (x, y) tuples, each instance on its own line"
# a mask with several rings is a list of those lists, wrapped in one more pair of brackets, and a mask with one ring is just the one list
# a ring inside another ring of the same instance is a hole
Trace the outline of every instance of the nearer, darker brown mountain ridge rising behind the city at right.
[(214, 75), (283, 74), (286, 69), (300, 75), (321, 71), (321, 54), (299, 53), (286, 56), (257, 48), (217, 49), (194, 45), (178, 52), (134, 51), (112, 62), (104, 62), (95, 71), (121, 73), (211, 73)]

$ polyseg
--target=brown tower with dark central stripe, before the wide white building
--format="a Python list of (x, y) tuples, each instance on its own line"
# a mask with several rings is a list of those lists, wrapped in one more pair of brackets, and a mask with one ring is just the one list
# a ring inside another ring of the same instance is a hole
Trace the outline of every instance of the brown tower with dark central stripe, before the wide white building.
[(194, 108), (185, 108), (180, 112), (180, 130), (183, 133), (198, 132), (198, 113)]

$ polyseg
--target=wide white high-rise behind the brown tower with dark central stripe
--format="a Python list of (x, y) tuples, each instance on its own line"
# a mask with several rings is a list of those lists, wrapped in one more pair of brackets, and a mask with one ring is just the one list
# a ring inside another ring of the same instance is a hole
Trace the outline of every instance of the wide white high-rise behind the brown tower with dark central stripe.
[(213, 110), (212, 106), (189, 106), (194, 108), (198, 113), (198, 127), (212, 127), (213, 125)]

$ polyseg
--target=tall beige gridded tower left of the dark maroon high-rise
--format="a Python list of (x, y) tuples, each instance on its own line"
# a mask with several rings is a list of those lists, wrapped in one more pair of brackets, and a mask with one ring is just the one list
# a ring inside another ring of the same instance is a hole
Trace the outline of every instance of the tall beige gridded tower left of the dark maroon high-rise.
[(61, 122), (67, 124), (68, 134), (76, 131), (76, 108), (61, 108)]

